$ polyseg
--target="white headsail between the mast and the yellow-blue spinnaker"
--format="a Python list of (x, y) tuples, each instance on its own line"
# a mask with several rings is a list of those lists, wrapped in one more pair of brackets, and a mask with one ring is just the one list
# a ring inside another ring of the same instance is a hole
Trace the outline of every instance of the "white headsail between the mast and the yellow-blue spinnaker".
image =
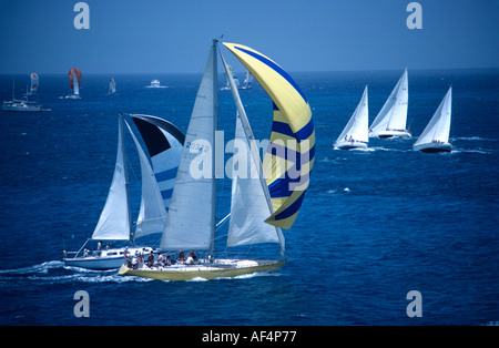
[[(227, 71), (228, 68), (222, 53), (221, 57), (224, 69)], [(243, 167), (249, 167), (249, 173), (247, 171), (243, 173), (243, 175), (246, 174), (245, 177), (233, 177), (227, 246), (279, 243), (281, 253), (284, 256), (283, 232), (281, 228), (265, 223), (265, 219), (273, 213), (271, 195), (263, 176), (262, 161), (240, 93), (232, 75), (227, 75), (230, 76), (228, 83), (232, 96), (237, 108), (235, 144), (240, 144), (240, 152), (245, 154), (243, 158), (240, 156), (240, 165), (244, 163)], [(247, 174), (251, 175), (247, 176)]]

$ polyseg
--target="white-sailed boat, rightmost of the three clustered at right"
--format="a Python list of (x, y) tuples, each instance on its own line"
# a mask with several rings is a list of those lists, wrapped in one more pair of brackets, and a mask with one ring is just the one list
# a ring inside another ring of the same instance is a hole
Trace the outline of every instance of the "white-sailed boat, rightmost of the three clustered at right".
[(449, 143), (450, 116), (452, 104), (452, 86), (447, 91), (446, 96), (440, 102), (437, 111), (428, 125), (413, 145), (415, 151), (421, 152), (451, 152), (452, 145)]

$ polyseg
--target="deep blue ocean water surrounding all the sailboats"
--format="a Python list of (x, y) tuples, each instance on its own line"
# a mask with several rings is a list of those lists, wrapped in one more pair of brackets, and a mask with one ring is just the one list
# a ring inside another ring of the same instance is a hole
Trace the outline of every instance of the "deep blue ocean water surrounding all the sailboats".
[[(452, 85), (452, 153), (416, 153), (415, 137), (334, 150), (364, 86), (371, 122), (401, 73), (292, 73), (313, 110), (317, 143), (310, 187), (285, 231), (288, 263), (210, 282), (121, 277), (61, 262), (64, 247), (77, 250), (91, 236), (105, 202), (118, 114), (162, 116), (185, 132), (201, 74), (114, 75), (118, 95), (106, 95), (111, 76), (83, 72), (81, 100), (60, 98), (70, 92), (65, 73), (41, 75), (38, 98), (50, 112), (0, 112), (0, 324), (497, 324), (499, 71), (409, 70), (415, 136)], [(0, 76), (1, 100), (10, 100), (12, 78)], [(144, 88), (155, 78), (167, 88)], [(28, 73), (16, 76), (18, 96), (27, 82)], [(266, 139), (271, 100), (256, 82), (241, 95), (255, 136)], [(225, 141), (234, 115), (230, 92), (220, 91)], [(230, 187), (220, 180), (218, 218), (228, 213)], [(139, 192), (132, 184), (132, 196)], [(136, 213), (139, 198), (133, 204)], [(223, 255), (223, 239), (217, 249)], [(79, 290), (89, 294), (88, 318), (73, 314)], [(421, 317), (407, 315), (411, 290), (421, 294)]]

